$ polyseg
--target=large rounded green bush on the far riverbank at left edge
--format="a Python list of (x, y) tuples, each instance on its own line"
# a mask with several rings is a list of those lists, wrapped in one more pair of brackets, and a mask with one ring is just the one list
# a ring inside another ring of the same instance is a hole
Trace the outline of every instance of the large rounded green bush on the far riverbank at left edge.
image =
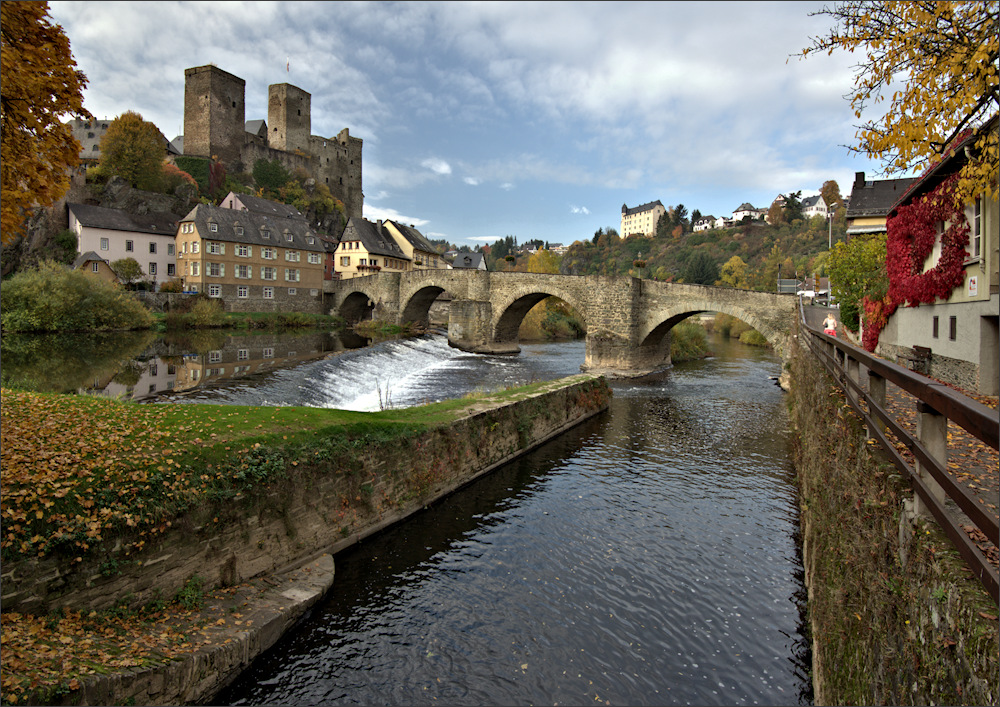
[(149, 329), (153, 316), (113, 282), (45, 261), (4, 282), (5, 331)]

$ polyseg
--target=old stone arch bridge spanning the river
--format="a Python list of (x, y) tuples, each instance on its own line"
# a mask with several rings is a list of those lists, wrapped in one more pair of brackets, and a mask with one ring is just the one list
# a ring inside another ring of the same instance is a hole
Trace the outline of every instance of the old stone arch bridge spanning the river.
[(699, 312), (724, 312), (759, 331), (785, 358), (797, 298), (627, 276), (479, 270), (378, 273), (324, 283), (327, 311), (349, 322), (374, 318), (427, 324), (431, 304), (452, 296), (448, 341), (464, 351), (517, 353), (517, 331), (546, 297), (572, 306), (587, 328), (584, 370), (635, 376), (670, 364), (670, 329)]

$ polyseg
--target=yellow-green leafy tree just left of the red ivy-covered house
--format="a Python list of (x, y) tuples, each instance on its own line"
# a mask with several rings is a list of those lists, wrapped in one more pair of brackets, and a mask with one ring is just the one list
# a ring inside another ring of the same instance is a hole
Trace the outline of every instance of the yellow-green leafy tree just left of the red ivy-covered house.
[(875, 301), (889, 291), (885, 268), (886, 235), (855, 236), (835, 243), (827, 262), (830, 289), (840, 302), (840, 321), (857, 331), (861, 300), (867, 295)]

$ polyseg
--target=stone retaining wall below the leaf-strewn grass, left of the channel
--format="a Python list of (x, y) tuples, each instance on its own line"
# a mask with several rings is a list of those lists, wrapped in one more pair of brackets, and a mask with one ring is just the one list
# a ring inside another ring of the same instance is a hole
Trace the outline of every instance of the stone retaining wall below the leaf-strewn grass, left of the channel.
[(5, 563), (4, 611), (140, 607), (170, 598), (192, 577), (230, 586), (334, 553), (421, 509), (499, 464), (605, 409), (604, 379), (579, 376), (516, 402), (489, 403), (402, 443), (355, 440), (350, 455), (314, 465), (286, 460), (286, 478), (254, 498), (208, 503), (126, 554), (120, 543), (70, 563)]

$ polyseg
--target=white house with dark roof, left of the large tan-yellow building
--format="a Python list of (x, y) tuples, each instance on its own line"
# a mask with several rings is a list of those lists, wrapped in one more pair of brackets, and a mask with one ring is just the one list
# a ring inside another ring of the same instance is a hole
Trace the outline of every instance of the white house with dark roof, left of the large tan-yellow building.
[(157, 288), (176, 276), (178, 218), (173, 214), (135, 215), (89, 204), (68, 204), (67, 209), (78, 253), (93, 251), (109, 263), (134, 258)]

